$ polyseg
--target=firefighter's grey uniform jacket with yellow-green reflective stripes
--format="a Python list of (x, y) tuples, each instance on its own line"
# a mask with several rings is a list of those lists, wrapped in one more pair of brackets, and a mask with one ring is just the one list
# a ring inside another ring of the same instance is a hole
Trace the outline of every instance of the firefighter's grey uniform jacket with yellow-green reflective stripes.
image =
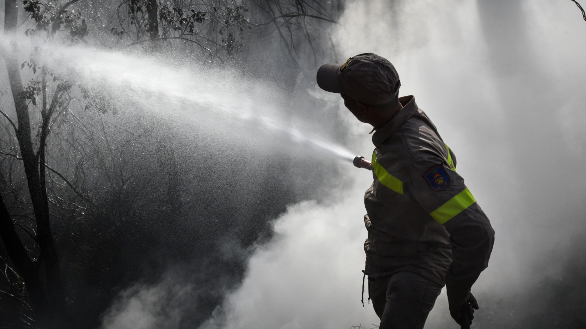
[(372, 138), (365, 272), (408, 270), (469, 289), (488, 266), (494, 231), (434, 124), (413, 96), (399, 100), (403, 108)]

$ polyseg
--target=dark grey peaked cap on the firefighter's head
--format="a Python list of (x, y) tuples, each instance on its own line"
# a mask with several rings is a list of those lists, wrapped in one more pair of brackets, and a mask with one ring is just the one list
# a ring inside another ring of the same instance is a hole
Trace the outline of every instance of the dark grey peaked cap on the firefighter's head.
[(325, 91), (346, 94), (369, 105), (392, 101), (401, 86), (393, 64), (373, 53), (350, 57), (344, 64), (323, 64), (316, 80)]

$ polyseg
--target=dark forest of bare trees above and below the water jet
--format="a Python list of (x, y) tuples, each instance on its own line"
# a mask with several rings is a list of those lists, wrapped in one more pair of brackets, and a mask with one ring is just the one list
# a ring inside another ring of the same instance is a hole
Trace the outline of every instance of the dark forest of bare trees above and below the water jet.
[[(342, 8), (314, 0), (7, 0), (4, 32), (171, 66), (229, 67), (287, 90), (335, 53), (327, 28)], [(295, 175), (333, 174), (287, 152), (221, 145), (211, 132), (137, 105), (121, 109), (108, 88), (58, 73), (25, 47), (8, 49), (5, 92), (15, 105), (2, 95), (3, 327), (98, 327), (122, 289), (158, 280), (169, 266), (198, 286), (183, 320), (197, 327), (239, 283), (247, 250), (271, 236), (271, 219), (315, 196), (315, 183), (300, 186)]]

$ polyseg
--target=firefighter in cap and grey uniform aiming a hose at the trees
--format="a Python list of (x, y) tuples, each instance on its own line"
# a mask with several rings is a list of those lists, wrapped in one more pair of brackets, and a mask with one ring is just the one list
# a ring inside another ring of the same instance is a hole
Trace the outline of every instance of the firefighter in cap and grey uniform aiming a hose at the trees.
[(380, 328), (423, 328), (444, 285), (452, 318), (469, 325), (478, 310), (471, 287), (488, 266), (494, 231), (456, 173), (454, 152), (413, 95), (398, 97), (397, 71), (383, 57), (324, 64), (316, 80), (373, 126), (364, 275)]

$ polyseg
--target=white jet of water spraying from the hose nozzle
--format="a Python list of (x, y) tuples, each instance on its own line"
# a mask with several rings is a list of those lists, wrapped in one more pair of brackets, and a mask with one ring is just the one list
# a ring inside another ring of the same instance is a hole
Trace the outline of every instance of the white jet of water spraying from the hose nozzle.
[[(237, 138), (258, 140), (259, 134), (271, 133), (319, 155), (348, 162), (353, 159), (352, 152), (342, 145), (292, 125), (287, 116), (279, 113), (278, 103), (265, 97), (271, 92), (242, 88), (248, 84), (233, 71), (194, 70), (170, 66), (142, 54), (0, 36), (0, 50), (15, 49), (16, 44), (35, 49), (42, 64), (60, 76), (107, 88), (118, 100), (134, 102), (153, 113), (192, 121), (200, 131), (216, 131), (222, 126), (223, 131), (231, 132), (248, 125), (254, 127), (245, 128), (250, 135), (239, 133)], [(269, 142), (273, 139), (265, 138)]]

